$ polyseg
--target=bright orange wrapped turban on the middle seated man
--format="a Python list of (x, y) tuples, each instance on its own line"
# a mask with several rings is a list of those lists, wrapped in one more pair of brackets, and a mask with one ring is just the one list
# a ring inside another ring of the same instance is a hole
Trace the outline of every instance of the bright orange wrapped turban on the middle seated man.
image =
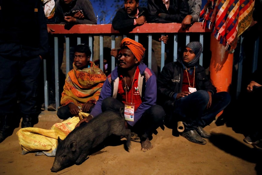
[(131, 40), (130, 38), (124, 38), (121, 41), (120, 48), (122, 48), (123, 46), (127, 46), (139, 62), (142, 60), (142, 57), (146, 50), (142, 44), (136, 42), (135, 40)]

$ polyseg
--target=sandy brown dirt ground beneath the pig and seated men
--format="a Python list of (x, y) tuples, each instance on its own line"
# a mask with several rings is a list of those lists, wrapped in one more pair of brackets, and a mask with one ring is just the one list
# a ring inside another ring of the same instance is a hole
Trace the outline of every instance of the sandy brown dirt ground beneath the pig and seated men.
[[(43, 111), (34, 127), (50, 129), (60, 122), (54, 111)], [(21, 126), (20, 126), (21, 127)], [(172, 135), (169, 128), (157, 129), (153, 135), (153, 149), (141, 151), (138, 142), (131, 143), (127, 152), (123, 145), (106, 146), (92, 154), (81, 165), (73, 165), (57, 173), (50, 171), (54, 157), (21, 155), (16, 128), (13, 135), (0, 143), (0, 174), (49, 175), (256, 175), (261, 174), (261, 149), (243, 142), (244, 136), (232, 128), (216, 126), (213, 122), (205, 127), (213, 135), (206, 145), (191, 143), (185, 138)]]

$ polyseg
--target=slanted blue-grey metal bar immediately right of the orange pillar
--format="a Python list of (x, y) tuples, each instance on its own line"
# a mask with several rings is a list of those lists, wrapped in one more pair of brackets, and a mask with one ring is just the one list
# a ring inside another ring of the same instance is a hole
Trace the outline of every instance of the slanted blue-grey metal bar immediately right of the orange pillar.
[(239, 53), (239, 62), (237, 69), (237, 80), (236, 80), (236, 98), (238, 98), (241, 91), (241, 82), (242, 82), (242, 70), (243, 70), (243, 51), (242, 51), (242, 42), (243, 37), (240, 37), (240, 53)]

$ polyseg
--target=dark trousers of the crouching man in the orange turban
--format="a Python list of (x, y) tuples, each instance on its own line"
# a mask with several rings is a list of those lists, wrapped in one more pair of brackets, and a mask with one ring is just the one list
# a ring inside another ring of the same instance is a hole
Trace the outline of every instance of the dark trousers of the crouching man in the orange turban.
[[(102, 103), (103, 112), (106, 110), (119, 112), (120, 107), (125, 107), (124, 103), (112, 97), (105, 98)], [(160, 105), (153, 105), (145, 110), (140, 120), (137, 121), (133, 127), (128, 124), (128, 128), (131, 129), (132, 132), (135, 132), (141, 141), (147, 138), (152, 140), (153, 133), (155, 133), (159, 126), (163, 125), (164, 116), (164, 109)]]

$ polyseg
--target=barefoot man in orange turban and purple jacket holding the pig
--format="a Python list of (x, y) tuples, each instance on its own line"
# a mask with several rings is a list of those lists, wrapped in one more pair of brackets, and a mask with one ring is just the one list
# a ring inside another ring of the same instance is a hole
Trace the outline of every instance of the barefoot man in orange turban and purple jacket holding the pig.
[(163, 126), (165, 116), (164, 109), (156, 104), (156, 75), (140, 63), (145, 53), (142, 44), (124, 38), (120, 48), (117, 67), (105, 80), (95, 107), (76, 127), (105, 110), (119, 112), (124, 107), (126, 127), (138, 135), (133, 141), (140, 142), (141, 150), (147, 151), (153, 148), (150, 142), (152, 134), (159, 126)]

